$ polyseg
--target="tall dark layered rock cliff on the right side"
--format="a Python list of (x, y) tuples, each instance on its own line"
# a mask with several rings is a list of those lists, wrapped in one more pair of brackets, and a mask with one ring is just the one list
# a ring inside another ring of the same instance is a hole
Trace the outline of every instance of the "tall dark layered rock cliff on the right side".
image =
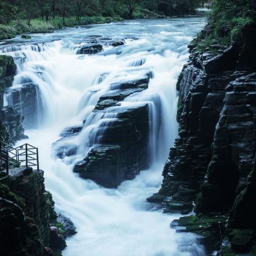
[(190, 61), (177, 82), (179, 136), (162, 188), (148, 199), (162, 201), (166, 212), (189, 213), (195, 204), (196, 216), (172, 226), (201, 235), (210, 251), (222, 244), (221, 255), (255, 252), (255, 37), (254, 23), (224, 51), (215, 46), (215, 53), (202, 54), (189, 46)]

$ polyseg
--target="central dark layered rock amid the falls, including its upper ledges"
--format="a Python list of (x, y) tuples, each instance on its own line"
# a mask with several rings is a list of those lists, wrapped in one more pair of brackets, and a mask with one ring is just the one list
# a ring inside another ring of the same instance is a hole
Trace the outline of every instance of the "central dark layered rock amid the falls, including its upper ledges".
[(149, 76), (110, 85), (101, 96), (94, 113), (115, 113), (94, 134), (97, 146), (74, 166), (80, 177), (91, 179), (107, 188), (115, 188), (124, 180), (133, 179), (148, 166), (148, 104), (119, 107), (119, 101), (132, 93), (148, 88)]

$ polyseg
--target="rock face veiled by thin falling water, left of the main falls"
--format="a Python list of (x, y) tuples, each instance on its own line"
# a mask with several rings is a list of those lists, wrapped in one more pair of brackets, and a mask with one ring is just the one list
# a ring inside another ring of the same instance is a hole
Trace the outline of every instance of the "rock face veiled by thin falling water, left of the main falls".
[(10, 87), (5, 90), (10, 94), (9, 104), (20, 116), (24, 116), (23, 126), (27, 129), (37, 127), (42, 113), (42, 102), (38, 85), (27, 83), (20, 88)]

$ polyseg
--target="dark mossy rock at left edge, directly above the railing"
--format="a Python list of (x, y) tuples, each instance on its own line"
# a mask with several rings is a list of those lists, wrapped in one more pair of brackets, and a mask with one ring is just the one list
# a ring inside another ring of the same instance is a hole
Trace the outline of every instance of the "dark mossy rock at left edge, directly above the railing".
[(13, 107), (3, 107), (4, 92), (12, 86), (16, 65), (13, 58), (0, 55), (0, 140), (14, 144), (24, 138), (23, 119)]

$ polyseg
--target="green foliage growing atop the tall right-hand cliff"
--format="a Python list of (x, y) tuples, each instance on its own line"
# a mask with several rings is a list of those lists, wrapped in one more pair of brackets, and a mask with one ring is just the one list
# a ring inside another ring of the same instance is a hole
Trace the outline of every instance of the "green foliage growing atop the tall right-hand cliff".
[(219, 49), (228, 48), (239, 41), (243, 28), (255, 21), (255, 5), (251, 0), (213, 1), (205, 31), (193, 41), (197, 49), (216, 54), (218, 51), (213, 45), (219, 45)]

